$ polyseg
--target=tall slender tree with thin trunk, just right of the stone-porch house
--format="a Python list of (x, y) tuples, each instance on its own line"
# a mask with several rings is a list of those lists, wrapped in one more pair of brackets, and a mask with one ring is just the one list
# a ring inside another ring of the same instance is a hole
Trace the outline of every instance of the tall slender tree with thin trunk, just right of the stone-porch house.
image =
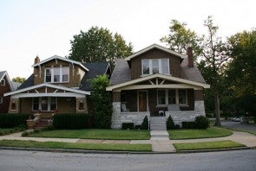
[(202, 57), (200, 61), (200, 72), (211, 85), (214, 94), (215, 105), (215, 125), (220, 125), (220, 92), (223, 90), (223, 71), (225, 64), (229, 59), (227, 54), (226, 42), (217, 36), (218, 26), (213, 24), (212, 16), (208, 16), (204, 24), (207, 27), (208, 35), (204, 37), (201, 44)]

